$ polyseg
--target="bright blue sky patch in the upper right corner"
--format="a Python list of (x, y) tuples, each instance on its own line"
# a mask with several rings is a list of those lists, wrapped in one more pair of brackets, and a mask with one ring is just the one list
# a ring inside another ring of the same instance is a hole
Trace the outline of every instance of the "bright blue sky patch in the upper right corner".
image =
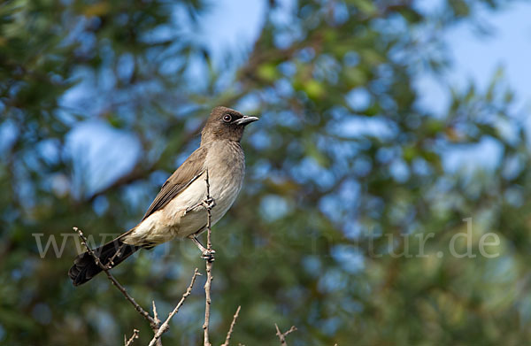
[[(430, 1), (431, 2), (431, 1)], [(446, 79), (452, 86), (464, 88), (473, 81), (486, 88), (498, 67), (516, 91), (517, 105), (522, 116), (531, 111), (531, 3), (513, 2), (503, 10), (478, 12), (478, 21), (489, 28), (489, 35), (480, 35), (470, 23), (463, 23), (448, 31), (444, 37), (450, 48), (453, 67)], [(426, 90), (423, 102), (441, 110), (448, 96), (433, 79), (419, 81)], [(528, 124), (531, 127), (531, 124)]]

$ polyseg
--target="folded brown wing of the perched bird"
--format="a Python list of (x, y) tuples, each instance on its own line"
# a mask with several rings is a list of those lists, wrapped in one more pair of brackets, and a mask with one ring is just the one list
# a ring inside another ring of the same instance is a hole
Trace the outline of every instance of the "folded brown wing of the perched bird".
[(165, 207), (175, 196), (187, 188), (193, 181), (196, 181), (204, 173), (204, 159), (206, 158), (206, 148), (199, 147), (189, 158), (182, 163), (172, 176), (165, 181), (160, 192), (155, 197), (150, 208), (142, 218), (147, 219), (153, 212)]

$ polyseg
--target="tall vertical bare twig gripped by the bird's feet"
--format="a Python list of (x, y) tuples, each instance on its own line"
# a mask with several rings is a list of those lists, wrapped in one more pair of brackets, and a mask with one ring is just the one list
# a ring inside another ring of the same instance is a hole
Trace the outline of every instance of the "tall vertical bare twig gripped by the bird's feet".
[(203, 332), (204, 332), (204, 346), (212, 346), (212, 343), (209, 340), (209, 327), (210, 327), (210, 307), (211, 307), (211, 287), (212, 287), (212, 263), (214, 261), (213, 257), (213, 251), (212, 251), (212, 207), (215, 204), (215, 202), (212, 200), (212, 197), (210, 196), (210, 182), (208, 177), (208, 170), (206, 170), (206, 201), (204, 203), (204, 208), (206, 209), (206, 250), (209, 254), (209, 256), (205, 257), (206, 262), (206, 281), (204, 282), (204, 296), (205, 296), (205, 303), (204, 303), (204, 324), (203, 324)]

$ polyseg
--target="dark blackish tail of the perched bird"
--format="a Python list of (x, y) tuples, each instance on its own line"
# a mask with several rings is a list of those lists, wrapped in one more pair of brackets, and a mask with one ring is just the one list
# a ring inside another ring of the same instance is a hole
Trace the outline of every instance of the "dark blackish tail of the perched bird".
[[(103, 246), (93, 250), (97, 258), (103, 265), (113, 268), (123, 262), (124, 259), (133, 255), (140, 246), (127, 245), (121, 241), (123, 235), (114, 239), (112, 242), (107, 242)], [(73, 286), (79, 286), (100, 273), (102, 268), (96, 265), (96, 261), (88, 252), (83, 252), (73, 260), (73, 265), (68, 271), (68, 276), (72, 280)]]

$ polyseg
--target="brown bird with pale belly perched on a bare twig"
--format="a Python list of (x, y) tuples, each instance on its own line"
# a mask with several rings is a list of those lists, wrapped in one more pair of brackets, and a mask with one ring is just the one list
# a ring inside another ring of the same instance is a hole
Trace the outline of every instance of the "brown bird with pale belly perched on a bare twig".
[[(201, 131), (199, 148), (165, 181), (141, 221), (112, 242), (93, 250), (100, 264), (111, 269), (136, 250), (152, 249), (175, 237), (191, 239), (204, 258), (212, 256), (197, 240), (206, 229), (204, 203), (212, 208), (211, 224), (214, 225), (235, 202), (245, 175), (245, 157), (240, 144), (243, 130), (257, 120), (227, 107), (215, 107)], [(210, 200), (207, 200), (207, 183)], [(68, 271), (73, 286), (102, 272), (100, 264), (88, 251), (78, 255)]]

